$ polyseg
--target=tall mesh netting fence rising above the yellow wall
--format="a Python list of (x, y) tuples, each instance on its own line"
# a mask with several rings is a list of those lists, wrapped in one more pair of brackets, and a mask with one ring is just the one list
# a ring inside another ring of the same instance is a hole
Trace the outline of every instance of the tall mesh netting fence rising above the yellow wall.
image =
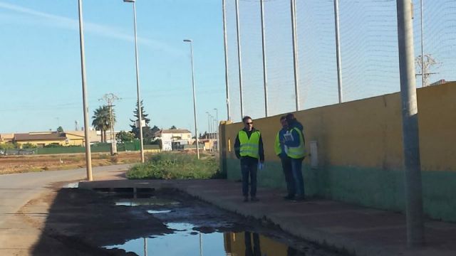
[[(229, 100), (241, 119), (237, 9), (244, 115), (264, 117), (261, 1), (225, 0)], [(299, 110), (337, 104), (335, 0), (294, 0)], [(296, 110), (291, 0), (264, 0), (268, 115)], [(456, 0), (413, 0), (417, 87), (456, 80)], [(339, 0), (343, 102), (400, 90), (395, 0)]]

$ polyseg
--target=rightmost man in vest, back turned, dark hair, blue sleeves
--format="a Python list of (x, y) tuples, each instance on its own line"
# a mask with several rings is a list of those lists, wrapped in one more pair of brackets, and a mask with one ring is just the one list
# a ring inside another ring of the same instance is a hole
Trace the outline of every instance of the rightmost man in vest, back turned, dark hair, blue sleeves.
[[(291, 118), (290, 118), (291, 117)], [(284, 144), (287, 148), (286, 155), (291, 159), (291, 172), (294, 177), (297, 201), (304, 200), (304, 179), (302, 177), (302, 161), (306, 157), (304, 146), (303, 126), (293, 114), (287, 114), (286, 120), (289, 124), (289, 131), (284, 134)]]

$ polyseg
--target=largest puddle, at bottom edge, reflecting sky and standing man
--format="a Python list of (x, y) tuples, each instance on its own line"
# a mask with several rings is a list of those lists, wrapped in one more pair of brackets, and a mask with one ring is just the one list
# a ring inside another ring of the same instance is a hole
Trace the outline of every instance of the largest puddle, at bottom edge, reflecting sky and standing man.
[(199, 233), (190, 223), (167, 223), (175, 233), (138, 238), (106, 249), (123, 249), (136, 255), (306, 255), (288, 245), (250, 232)]

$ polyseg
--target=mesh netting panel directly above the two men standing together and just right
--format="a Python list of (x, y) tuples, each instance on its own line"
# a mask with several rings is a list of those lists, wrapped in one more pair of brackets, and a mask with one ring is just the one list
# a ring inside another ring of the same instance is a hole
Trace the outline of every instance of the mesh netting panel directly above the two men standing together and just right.
[(309, 109), (338, 102), (333, 1), (296, 1), (299, 99)]

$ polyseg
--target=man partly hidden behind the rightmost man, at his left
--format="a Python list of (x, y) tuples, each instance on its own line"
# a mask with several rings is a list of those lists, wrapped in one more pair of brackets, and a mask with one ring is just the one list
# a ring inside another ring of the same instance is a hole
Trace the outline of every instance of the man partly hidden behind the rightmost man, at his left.
[(279, 156), (282, 170), (284, 171), (286, 191), (288, 192), (288, 194), (284, 196), (284, 199), (293, 200), (296, 194), (296, 186), (294, 186), (293, 171), (291, 170), (291, 158), (286, 154), (288, 152), (288, 147), (285, 146), (285, 134), (289, 133), (289, 125), (285, 116), (280, 117), (280, 124), (282, 125), (282, 129), (277, 132), (276, 141), (274, 142), (274, 151), (276, 152), (276, 155)]

